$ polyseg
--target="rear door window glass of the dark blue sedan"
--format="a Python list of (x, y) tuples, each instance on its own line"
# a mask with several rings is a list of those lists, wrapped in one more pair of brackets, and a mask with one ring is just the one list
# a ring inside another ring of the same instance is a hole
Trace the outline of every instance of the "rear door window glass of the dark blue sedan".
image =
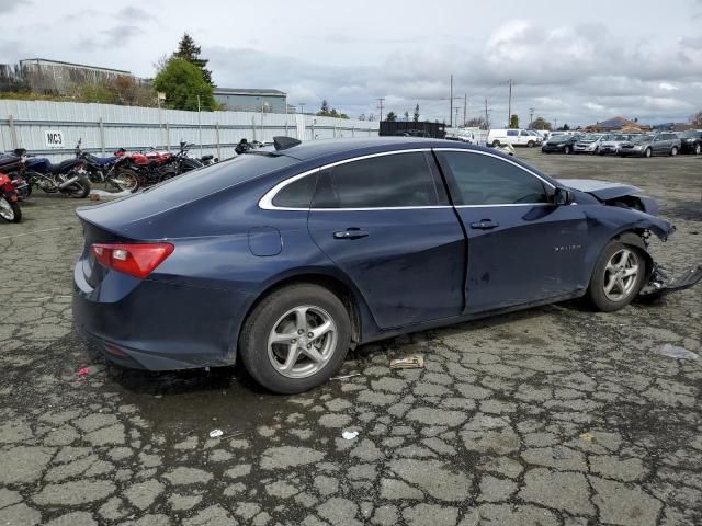
[(351, 161), (319, 175), (313, 208), (435, 206), (439, 196), (422, 152)]

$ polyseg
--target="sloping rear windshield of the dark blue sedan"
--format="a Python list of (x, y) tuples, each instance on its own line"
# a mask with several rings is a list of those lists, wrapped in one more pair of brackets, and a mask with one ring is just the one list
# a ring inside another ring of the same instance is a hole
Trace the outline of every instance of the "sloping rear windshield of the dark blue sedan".
[(145, 190), (143, 194), (166, 203), (195, 201), (298, 162), (297, 159), (286, 156), (247, 153), (169, 179)]

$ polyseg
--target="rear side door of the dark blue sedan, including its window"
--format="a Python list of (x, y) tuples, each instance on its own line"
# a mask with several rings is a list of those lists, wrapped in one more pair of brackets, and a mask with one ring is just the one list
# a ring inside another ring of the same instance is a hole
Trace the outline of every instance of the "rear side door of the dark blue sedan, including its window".
[(322, 169), (308, 229), (381, 329), (461, 313), (465, 239), (430, 150)]

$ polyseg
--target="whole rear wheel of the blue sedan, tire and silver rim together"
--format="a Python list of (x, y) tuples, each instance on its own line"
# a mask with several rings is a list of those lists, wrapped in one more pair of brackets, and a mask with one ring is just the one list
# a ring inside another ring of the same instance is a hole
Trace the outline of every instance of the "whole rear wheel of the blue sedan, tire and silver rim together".
[[(304, 312), (304, 325), (298, 312)], [(308, 341), (310, 331), (327, 322), (330, 330)], [(290, 339), (271, 342), (283, 334)], [(341, 300), (324, 287), (301, 284), (281, 288), (257, 305), (244, 324), (239, 353), (257, 382), (273, 392), (293, 395), (329, 380), (341, 367), (350, 342), (351, 321)]]

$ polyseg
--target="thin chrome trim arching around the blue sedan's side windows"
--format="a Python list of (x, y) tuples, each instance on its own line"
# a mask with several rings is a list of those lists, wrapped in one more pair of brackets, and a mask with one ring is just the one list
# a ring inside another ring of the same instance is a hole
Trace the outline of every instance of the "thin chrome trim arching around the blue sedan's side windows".
[(325, 164), (322, 167), (314, 168), (312, 170), (307, 170), (305, 172), (298, 173), (297, 175), (293, 175), (284, 181), (281, 181), (271, 190), (269, 190), (263, 197), (259, 199), (259, 208), (263, 210), (281, 210), (281, 211), (372, 211), (372, 210), (422, 210), (422, 209), (441, 209), (441, 208), (486, 208), (486, 207), (505, 207), (505, 206), (551, 206), (551, 203), (509, 203), (509, 204), (494, 204), (494, 205), (457, 205), (455, 207), (451, 205), (432, 205), (432, 206), (395, 206), (395, 207), (371, 207), (371, 208), (313, 208), (308, 206), (306, 208), (293, 208), (285, 206), (275, 206), (273, 205), (273, 199), (275, 195), (283, 190), (288, 184), (294, 183), (307, 175), (312, 175), (313, 173), (321, 172), (322, 170), (328, 170), (329, 168), (338, 167), (340, 164), (347, 164), (349, 162), (362, 161), (364, 159), (372, 159), (374, 157), (384, 157), (384, 156), (393, 156), (397, 153), (412, 153), (412, 152), (426, 152), (426, 151), (460, 151), (464, 153), (478, 153), (482, 156), (494, 157), (495, 159), (499, 159), (500, 161), (508, 162), (513, 167), (521, 169), (528, 174), (536, 178), (542, 183), (546, 184), (551, 188), (556, 188), (548, 181), (540, 176), (537, 173), (532, 172), (531, 170), (517, 164), (510, 159), (505, 159), (503, 157), (496, 156), (495, 153), (490, 153), (489, 151), (479, 151), (479, 150), (468, 150), (465, 148), (412, 148), (408, 150), (392, 150), (392, 151), (381, 151), (378, 153), (369, 153), (365, 156), (353, 157), (350, 159), (343, 159), (341, 161), (330, 162), (329, 164)]

